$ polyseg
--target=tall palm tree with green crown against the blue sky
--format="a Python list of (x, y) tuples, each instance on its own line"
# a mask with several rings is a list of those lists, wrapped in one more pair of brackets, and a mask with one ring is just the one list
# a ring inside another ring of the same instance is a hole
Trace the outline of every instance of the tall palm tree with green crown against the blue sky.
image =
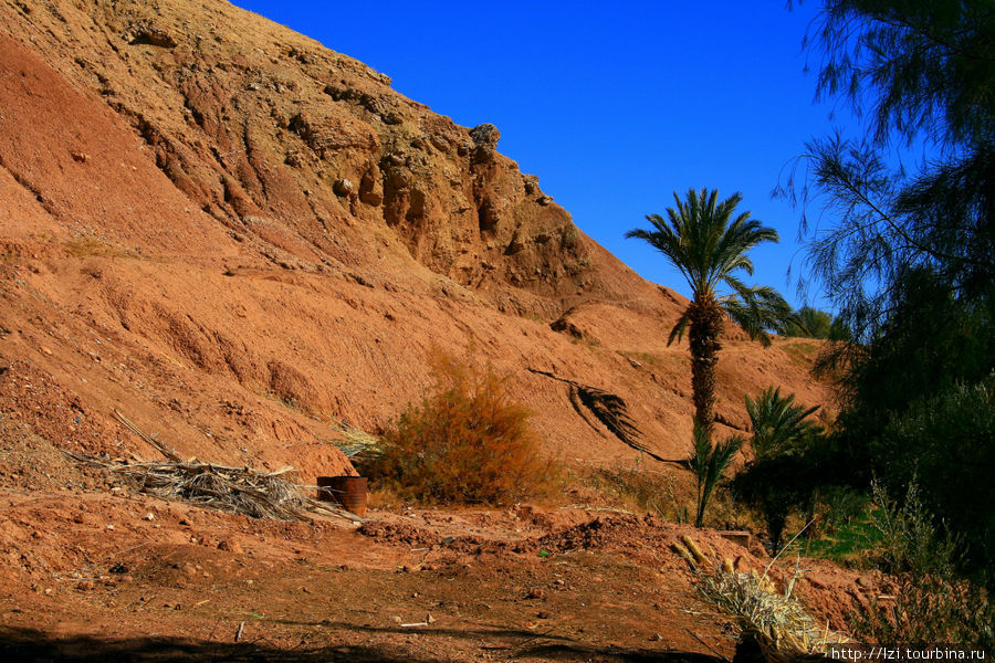
[[(792, 307), (771, 287), (751, 287), (733, 274), (753, 274), (746, 252), (762, 242), (776, 242), (777, 231), (766, 228), (750, 212), (735, 215), (743, 200), (733, 193), (719, 202), (719, 191), (688, 191), (687, 200), (674, 192), (677, 208), (667, 208), (667, 219), (650, 214), (654, 230), (637, 228), (626, 238), (646, 240), (678, 269), (691, 286), (691, 304), (684, 309), (668, 345), (690, 327), (691, 390), (694, 419), (711, 438), (715, 403), (715, 364), (722, 348), (723, 318), (730, 317), (751, 338), (771, 344), (767, 330), (783, 330), (793, 320)], [(725, 285), (729, 291), (720, 291)]]

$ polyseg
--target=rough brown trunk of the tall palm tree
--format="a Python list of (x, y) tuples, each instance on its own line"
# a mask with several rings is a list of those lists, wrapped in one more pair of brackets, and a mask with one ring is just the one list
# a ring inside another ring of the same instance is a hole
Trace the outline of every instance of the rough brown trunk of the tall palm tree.
[(694, 419), (711, 438), (715, 421), (715, 365), (722, 344), (722, 309), (713, 298), (698, 298), (688, 307), (691, 322), (691, 392), (694, 400)]

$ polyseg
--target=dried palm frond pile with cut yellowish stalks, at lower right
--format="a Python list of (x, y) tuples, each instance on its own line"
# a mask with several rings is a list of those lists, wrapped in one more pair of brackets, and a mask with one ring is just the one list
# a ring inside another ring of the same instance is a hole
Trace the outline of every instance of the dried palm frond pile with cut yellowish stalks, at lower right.
[(673, 548), (698, 576), (695, 585), (701, 596), (737, 620), (741, 641), (752, 641), (765, 661), (821, 659), (831, 645), (847, 642), (846, 636), (829, 630), (828, 622), (820, 627), (802, 601), (792, 596), (797, 570), (781, 593), (766, 573), (736, 572), (729, 559), (713, 568), (690, 537), (682, 540), (687, 548), (680, 544)]

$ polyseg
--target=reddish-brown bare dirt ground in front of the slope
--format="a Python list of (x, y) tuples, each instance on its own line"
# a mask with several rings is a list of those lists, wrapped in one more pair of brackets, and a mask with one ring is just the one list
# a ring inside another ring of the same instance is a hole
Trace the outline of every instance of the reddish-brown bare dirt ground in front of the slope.
[[(729, 660), (734, 623), (670, 544), (769, 562), (713, 530), (579, 507), (277, 523), (113, 486), (4, 488), (0, 508), (7, 660)], [(870, 583), (807, 564), (799, 591), (844, 627)]]

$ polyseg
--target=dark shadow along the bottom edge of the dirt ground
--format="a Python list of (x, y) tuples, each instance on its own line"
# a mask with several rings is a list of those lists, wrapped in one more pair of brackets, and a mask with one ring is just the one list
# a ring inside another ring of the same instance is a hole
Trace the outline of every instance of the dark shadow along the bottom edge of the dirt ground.
[[(472, 655), (472, 654), (471, 654)], [(605, 663), (723, 663), (722, 659), (689, 652), (598, 649), (574, 642), (525, 643), (493, 652), (495, 660), (525, 657), (541, 661), (590, 661)], [(14, 663), (61, 662), (97, 663), (135, 661), (167, 662), (263, 662), (287, 663), (442, 663), (450, 656), (426, 657), (400, 645), (329, 645), (316, 649), (282, 649), (261, 642), (208, 642), (177, 638), (133, 638), (105, 640), (90, 635), (55, 638), (33, 629), (0, 627), (0, 661)]]

